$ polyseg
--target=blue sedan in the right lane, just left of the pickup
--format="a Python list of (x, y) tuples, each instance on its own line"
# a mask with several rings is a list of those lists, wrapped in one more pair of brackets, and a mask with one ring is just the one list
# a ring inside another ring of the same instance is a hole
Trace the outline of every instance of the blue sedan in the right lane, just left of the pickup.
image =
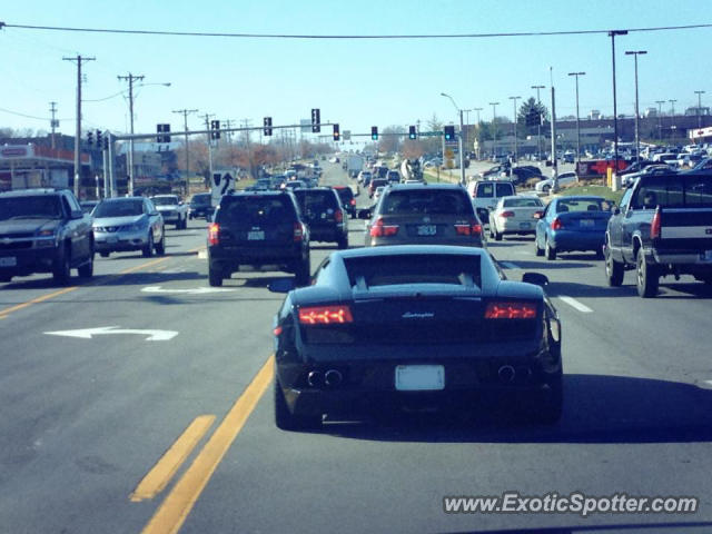
[(602, 259), (610, 218), (611, 202), (603, 197), (554, 198), (536, 222), (536, 255), (556, 259), (558, 253), (592, 250)]

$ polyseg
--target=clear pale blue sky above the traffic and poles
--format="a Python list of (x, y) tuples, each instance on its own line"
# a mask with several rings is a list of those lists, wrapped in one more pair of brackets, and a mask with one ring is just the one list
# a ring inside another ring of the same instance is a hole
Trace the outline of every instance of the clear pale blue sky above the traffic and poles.
[[(606, 30), (712, 22), (701, 0), (462, 0), (462, 1), (69, 1), (3, 2), (8, 24), (150, 29), (250, 33), (492, 33)], [(633, 59), (625, 50), (647, 50), (640, 58), (641, 109), (676, 99), (675, 110), (696, 105), (694, 90), (712, 103), (709, 53), (712, 29), (630, 33), (616, 39), (619, 112), (634, 109)], [(557, 92), (557, 115), (575, 112), (574, 79), (581, 78), (581, 115), (612, 113), (611, 39), (604, 34), (431, 40), (275, 40), (0, 30), (0, 126), (49, 129), (49, 102), (56, 101), (60, 131), (73, 134), (76, 67), (63, 56), (81, 53), (85, 65), (83, 126), (128, 129), (123, 95), (103, 101), (127, 83), (118, 75), (144, 75), (137, 91), (136, 130), (157, 122), (181, 129), (172, 110), (197, 108), (219, 119), (271, 116), (274, 123), (298, 122), (319, 107), (322, 119), (342, 130), (366, 132), (372, 125), (408, 125), (436, 113), (455, 120), (452, 95), (461, 108), (502, 102), (497, 116), (512, 116), (511, 96), (534, 96), (550, 67)], [(666, 105), (669, 109), (670, 106)], [(12, 111), (13, 113), (8, 112)], [(476, 113), (469, 113), (474, 122)], [(189, 118), (198, 129), (201, 119)]]

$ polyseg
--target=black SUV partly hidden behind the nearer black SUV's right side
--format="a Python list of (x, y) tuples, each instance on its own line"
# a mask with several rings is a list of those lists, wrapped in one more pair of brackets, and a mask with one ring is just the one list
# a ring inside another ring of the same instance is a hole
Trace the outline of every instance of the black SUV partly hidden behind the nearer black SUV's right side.
[(338, 244), (338, 248), (348, 248), (348, 228), (344, 217), (344, 207), (338, 194), (330, 187), (295, 189), (299, 211), (309, 227), (313, 241)]

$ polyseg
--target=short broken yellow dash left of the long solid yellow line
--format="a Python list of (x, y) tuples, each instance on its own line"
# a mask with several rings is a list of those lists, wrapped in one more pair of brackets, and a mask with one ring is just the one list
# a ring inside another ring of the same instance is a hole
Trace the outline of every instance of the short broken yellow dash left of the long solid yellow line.
[(215, 415), (196, 417), (171, 447), (166, 451), (166, 454), (161, 456), (154, 468), (139, 482), (129, 498), (138, 503), (146, 498), (154, 498), (162, 492), (166, 484), (170, 482), (214, 422)]

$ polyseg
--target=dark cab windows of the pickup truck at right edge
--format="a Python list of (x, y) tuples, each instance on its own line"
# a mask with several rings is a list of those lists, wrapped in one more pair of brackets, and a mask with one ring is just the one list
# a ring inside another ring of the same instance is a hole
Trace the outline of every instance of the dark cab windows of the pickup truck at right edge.
[(633, 208), (712, 207), (712, 176), (653, 176), (632, 199)]

